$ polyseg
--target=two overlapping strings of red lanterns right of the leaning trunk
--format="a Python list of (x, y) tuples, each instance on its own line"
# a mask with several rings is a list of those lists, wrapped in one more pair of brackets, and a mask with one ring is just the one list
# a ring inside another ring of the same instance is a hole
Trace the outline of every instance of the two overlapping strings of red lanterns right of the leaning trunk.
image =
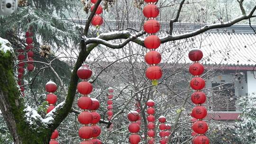
[(77, 85), (77, 91), (82, 94), (82, 97), (77, 100), (77, 105), (82, 110), (78, 115), (78, 121), (83, 125), (78, 131), (80, 138), (83, 139), (80, 144), (101, 144), (101, 141), (97, 139), (101, 134), (101, 128), (96, 125), (101, 118), (100, 114), (96, 112), (100, 103), (97, 99), (88, 97), (92, 91), (92, 85), (87, 81), (91, 74), (91, 69), (84, 63), (77, 71), (77, 76), (82, 79)]

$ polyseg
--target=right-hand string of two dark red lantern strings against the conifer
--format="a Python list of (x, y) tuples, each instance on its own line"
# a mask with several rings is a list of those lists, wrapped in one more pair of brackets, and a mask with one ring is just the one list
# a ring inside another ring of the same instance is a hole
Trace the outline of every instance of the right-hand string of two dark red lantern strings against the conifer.
[[(29, 30), (26, 32), (26, 51), (27, 51), (27, 61), (34, 61), (33, 57), (34, 57), (34, 53), (32, 52), (32, 49), (34, 48), (34, 46), (32, 45), (33, 43), (33, 32), (31, 32), (32, 28), (29, 28)], [(27, 62), (27, 70), (32, 72), (34, 70), (35, 66), (33, 62)]]

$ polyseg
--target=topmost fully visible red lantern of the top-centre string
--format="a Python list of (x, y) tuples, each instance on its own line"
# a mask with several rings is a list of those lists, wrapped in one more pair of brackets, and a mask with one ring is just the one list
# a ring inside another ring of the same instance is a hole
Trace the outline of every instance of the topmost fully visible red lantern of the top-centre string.
[(146, 18), (155, 18), (159, 15), (159, 9), (154, 4), (146, 5), (142, 12)]

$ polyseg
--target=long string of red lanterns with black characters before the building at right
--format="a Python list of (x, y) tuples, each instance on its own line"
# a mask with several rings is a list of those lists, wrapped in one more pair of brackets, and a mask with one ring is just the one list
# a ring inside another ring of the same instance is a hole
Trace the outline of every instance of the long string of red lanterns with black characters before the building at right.
[(206, 101), (205, 93), (201, 92), (205, 86), (205, 81), (200, 77), (200, 75), (204, 72), (203, 65), (199, 63), (202, 57), (203, 53), (201, 50), (195, 49), (189, 52), (189, 59), (194, 62), (192, 65), (190, 65), (189, 72), (195, 76), (192, 78), (190, 86), (193, 90), (196, 90), (191, 96), (192, 102), (196, 104), (191, 113), (191, 116), (195, 118), (192, 119), (192, 135), (197, 135), (193, 139), (193, 144), (210, 143), (209, 138), (204, 135), (208, 130), (208, 125), (202, 120), (207, 115), (207, 109), (202, 106), (202, 104)]

